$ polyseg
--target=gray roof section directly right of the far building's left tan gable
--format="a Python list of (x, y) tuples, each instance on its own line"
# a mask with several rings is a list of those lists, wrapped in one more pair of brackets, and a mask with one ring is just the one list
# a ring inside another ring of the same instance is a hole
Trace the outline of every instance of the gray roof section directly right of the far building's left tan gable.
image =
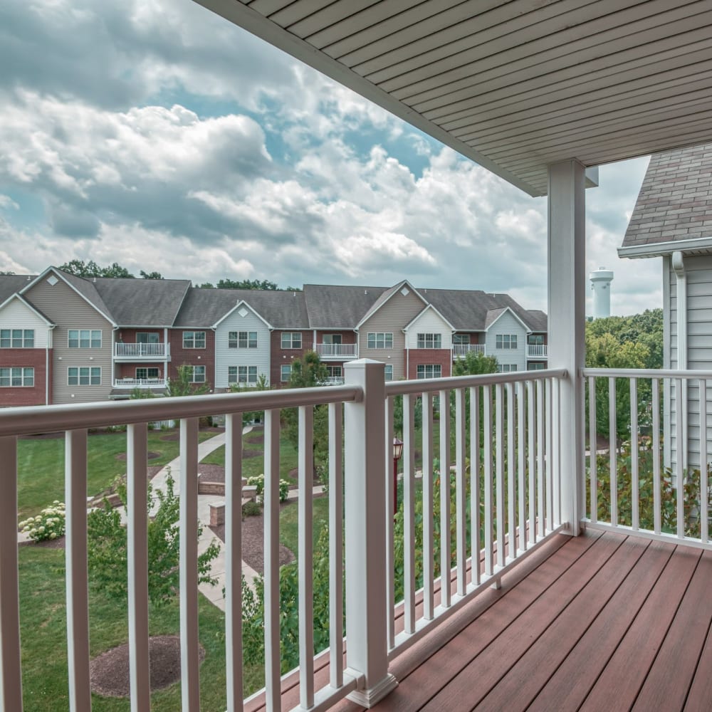
[(118, 325), (172, 326), (190, 281), (98, 277), (93, 285)]

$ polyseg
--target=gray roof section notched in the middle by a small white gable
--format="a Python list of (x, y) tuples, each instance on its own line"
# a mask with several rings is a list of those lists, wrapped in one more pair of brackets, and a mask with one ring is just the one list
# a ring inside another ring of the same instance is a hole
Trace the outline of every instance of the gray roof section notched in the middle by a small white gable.
[(188, 290), (174, 325), (179, 328), (211, 327), (242, 300), (276, 329), (310, 328), (303, 292), (200, 287)]

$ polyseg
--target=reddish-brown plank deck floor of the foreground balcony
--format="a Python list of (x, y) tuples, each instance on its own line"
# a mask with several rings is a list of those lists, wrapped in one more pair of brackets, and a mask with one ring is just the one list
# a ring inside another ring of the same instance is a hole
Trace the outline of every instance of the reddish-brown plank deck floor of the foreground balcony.
[(712, 553), (555, 537), (395, 659), (375, 709), (708, 712), (711, 622)]

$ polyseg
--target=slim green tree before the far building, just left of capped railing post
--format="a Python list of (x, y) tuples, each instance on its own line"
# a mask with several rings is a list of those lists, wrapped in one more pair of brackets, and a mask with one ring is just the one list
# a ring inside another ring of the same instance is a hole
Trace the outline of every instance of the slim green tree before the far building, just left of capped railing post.
[[(292, 372), (289, 378), (290, 388), (313, 388), (328, 383), (329, 372), (315, 351), (305, 351), (301, 359), (292, 362)], [(284, 434), (295, 447), (299, 446), (299, 419), (296, 408), (286, 408), (282, 411)], [(321, 478), (328, 472), (329, 464), (329, 407), (318, 405), (314, 407), (314, 468)]]

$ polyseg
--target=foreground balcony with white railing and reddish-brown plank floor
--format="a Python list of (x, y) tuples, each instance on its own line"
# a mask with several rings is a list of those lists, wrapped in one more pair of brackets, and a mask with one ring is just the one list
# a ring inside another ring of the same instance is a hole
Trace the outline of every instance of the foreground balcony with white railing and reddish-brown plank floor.
[[(355, 710), (357, 705), (384, 712), (443, 706), (708, 708), (712, 542), (707, 507), (699, 506), (709, 494), (707, 468), (700, 476), (692, 460), (684, 469), (682, 458), (675, 471), (661, 466), (660, 414), (670, 389), (685, 391), (691, 402), (706, 403), (712, 372), (583, 370), (571, 387), (564, 370), (387, 383), (382, 371), (382, 364), (364, 361), (346, 370), (346, 384), (331, 388), (0, 412), (0, 458), (6, 475), (0, 498), (3, 708), (20, 710), (23, 693), (17, 436), (66, 431), (67, 674), (73, 709), (84, 710), (90, 708), (87, 431), (117, 423), (130, 426), (127, 567), (130, 580), (141, 582), (147, 575), (145, 428), (156, 421), (180, 422), (180, 627), (190, 641), (181, 656), (182, 693), (183, 708), (197, 711), (199, 676), (204, 674), (195, 578), (199, 418), (226, 414), (227, 451), (239, 453), (241, 414), (253, 411), (265, 412), (266, 688), (245, 702), (247, 710)], [(563, 389), (575, 394), (582, 412), (584, 389), (577, 386), (584, 385), (588, 422), (581, 441), (574, 443), (567, 440), (571, 430), (565, 427)], [(435, 398), (442, 402), (449, 394), (454, 407), (440, 409), (435, 420)], [(391, 469), (396, 397), (402, 397), (404, 424), (395, 433), (404, 442), (397, 490)], [(338, 525), (328, 533), (330, 624), (319, 631), (328, 639), (328, 649), (315, 656), (313, 560), (326, 552), (315, 552), (313, 511), (301, 503), (312, 493), (312, 413), (321, 404), (328, 406), (330, 433), (328, 515)], [(273, 454), (279, 449), (280, 412), (287, 407), (300, 411), (300, 653), (298, 669), (282, 676), (280, 470)], [(422, 414), (417, 431), (415, 409)], [(697, 437), (696, 451), (708, 453), (709, 461), (712, 437), (687, 427), (693, 417), (689, 412), (681, 410), (679, 432)], [(650, 434), (643, 437), (643, 429)], [(622, 451), (597, 450), (597, 434), (603, 432), (615, 443), (622, 431), (639, 444), (632, 453), (626, 446)], [(582, 471), (566, 471), (563, 455), (567, 449), (583, 454), (586, 438), (593, 446), (585, 464), (581, 458)], [(690, 457), (694, 451), (690, 446)], [(229, 709), (242, 708), (244, 696), (242, 501), (241, 488), (232, 485), (239, 481), (238, 466), (234, 458), (226, 458), (226, 529), (232, 532), (224, 546), (224, 604), (230, 612), (224, 636), (230, 661), (224, 708)], [(607, 466), (615, 476), (606, 476)], [(677, 488), (683, 478), (689, 486)], [(441, 491), (441, 481), (449, 481), (449, 491)], [(402, 535), (394, 531), (394, 510), (401, 513), (397, 526)], [(434, 514), (422, 517), (421, 535), (416, 522), (422, 513)], [(444, 533), (437, 547), (436, 531)], [(396, 537), (402, 542), (398, 547)], [(417, 571), (422, 575), (417, 577)], [(130, 588), (128, 607), (132, 703), (147, 709), (145, 587)]]

